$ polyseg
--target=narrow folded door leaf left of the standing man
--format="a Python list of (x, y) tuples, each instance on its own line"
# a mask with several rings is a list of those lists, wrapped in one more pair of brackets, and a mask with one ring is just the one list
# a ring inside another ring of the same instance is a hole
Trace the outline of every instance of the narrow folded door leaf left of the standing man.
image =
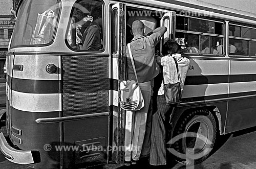
[[(120, 80), (125, 79), (125, 5), (118, 3), (111, 8), (111, 53), (112, 53), (112, 81), (113, 81), (113, 141), (112, 159), (122, 162), (124, 126), (124, 111), (120, 108), (119, 91)], [(115, 149), (114, 149), (115, 148)]]

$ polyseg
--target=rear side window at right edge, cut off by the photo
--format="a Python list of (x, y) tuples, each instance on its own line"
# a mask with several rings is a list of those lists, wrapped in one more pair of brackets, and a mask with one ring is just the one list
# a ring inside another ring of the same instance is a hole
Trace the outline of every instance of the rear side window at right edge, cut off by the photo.
[(256, 29), (229, 25), (229, 55), (256, 56)]

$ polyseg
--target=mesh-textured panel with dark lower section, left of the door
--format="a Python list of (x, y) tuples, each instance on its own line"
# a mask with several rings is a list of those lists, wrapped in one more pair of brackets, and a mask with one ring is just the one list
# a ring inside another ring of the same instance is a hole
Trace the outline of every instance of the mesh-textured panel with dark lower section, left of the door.
[(64, 143), (79, 148), (66, 154), (64, 167), (69, 167), (69, 162), (106, 159), (111, 89), (109, 55), (61, 56), (61, 68), (63, 116), (97, 116), (63, 123)]

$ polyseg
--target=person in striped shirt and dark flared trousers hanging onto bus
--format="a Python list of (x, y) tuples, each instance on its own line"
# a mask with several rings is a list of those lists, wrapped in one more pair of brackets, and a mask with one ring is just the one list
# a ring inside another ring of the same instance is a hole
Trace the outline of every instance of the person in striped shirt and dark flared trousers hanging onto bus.
[[(163, 66), (164, 83), (177, 83), (180, 79), (181, 89), (183, 90), (185, 78), (189, 68), (189, 59), (182, 56), (181, 46), (175, 40), (168, 40), (162, 47), (164, 57), (157, 57), (157, 63)], [(174, 59), (178, 62), (179, 76)], [(157, 111), (153, 114), (152, 135), (151, 135), (151, 165), (166, 164), (166, 129), (170, 130), (173, 127), (172, 117), (174, 109), (177, 105), (166, 105), (163, 81), (158, 90), (157, 96)], [(172, 134), (170, 134), (172, 135)], [(168, 140), (167, 140), (168, 141)]]

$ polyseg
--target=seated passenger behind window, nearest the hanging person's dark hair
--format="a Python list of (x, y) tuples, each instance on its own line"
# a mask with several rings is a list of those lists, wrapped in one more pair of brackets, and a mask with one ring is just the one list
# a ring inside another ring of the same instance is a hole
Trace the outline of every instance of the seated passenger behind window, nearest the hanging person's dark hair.
[(183, 53), (201, 53), (196, 46), (198, 46), (198, 36), (188, 36), (186, 48), (182, 50)]

